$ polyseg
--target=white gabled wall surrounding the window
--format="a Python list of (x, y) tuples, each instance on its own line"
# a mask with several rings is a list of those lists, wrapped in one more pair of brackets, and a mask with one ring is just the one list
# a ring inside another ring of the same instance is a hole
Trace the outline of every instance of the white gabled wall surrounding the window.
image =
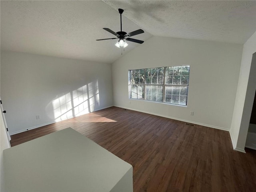
[[(241, 57), (240, 44), (154, 36), (112, 64), (114, 106), (230, 130)], [(129, 100), (129, 69), (188, 64), (187, 107)]]

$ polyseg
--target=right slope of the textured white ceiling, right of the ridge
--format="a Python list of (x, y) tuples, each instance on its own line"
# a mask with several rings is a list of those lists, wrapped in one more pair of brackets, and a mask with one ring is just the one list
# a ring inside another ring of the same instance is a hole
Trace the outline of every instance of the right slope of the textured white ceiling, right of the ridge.
[(244, 44), (256, 31), (256, 1), (104, 1), (154, 36)]

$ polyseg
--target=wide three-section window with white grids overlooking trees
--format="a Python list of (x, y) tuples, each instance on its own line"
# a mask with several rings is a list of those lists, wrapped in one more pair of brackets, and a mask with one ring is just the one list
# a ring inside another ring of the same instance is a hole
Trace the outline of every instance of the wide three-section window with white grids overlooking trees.
[(186, 106), (189, 72), (189, 65), (129, 70), (129, 96)]

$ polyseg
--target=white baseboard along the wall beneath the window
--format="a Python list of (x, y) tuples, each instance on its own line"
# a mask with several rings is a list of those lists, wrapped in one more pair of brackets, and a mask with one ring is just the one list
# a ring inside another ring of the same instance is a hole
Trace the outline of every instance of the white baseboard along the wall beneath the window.
[(210, 128), (220, 129), (220, 130), (224, 130), (224, 131), (230, 131), (230, 129), (228, 129), (228, 128), (218, 127), (218, 126), (214, 126), (214, 125), (208, 125), (208, 124), (199, 123), (199, 122), (194, 122), (194, 121), (188, 121), (188, 120), (185, 120), (185, 119), (180, 119), (180, 118), (176, 118), (176, 117), (165, 116), (165, 115), (156, 114), (156, 113), (151, 113), (151, 112), (143, 111), (143, 110), (136, 110), (136, 109), (127, 108), (127, 107), (122, 107), (122, 106), (117, 106), (117, 105), (114, 105), (114, 106), (115, 106), (115, 107), (124, 108), (124, 109), (128, 109), (128, 110), (138, 111), (138, 112), (142, 112), (142, 113), (147, 113), (147, 114), (151, 114), (151, 115), (156, 115), (156, 116), (160, 116), (160, 117), (165, 117), (165, 118), (169, 118), (169, 119), (174, 119), (174, 120), (178, 120), (178, 121), (183, 121), (183, 122), (188, 122), (188, 123), (192, 123), (192, 124), (202, 125), (202, 126), (206, 126), (206, 127), (210, 127)]

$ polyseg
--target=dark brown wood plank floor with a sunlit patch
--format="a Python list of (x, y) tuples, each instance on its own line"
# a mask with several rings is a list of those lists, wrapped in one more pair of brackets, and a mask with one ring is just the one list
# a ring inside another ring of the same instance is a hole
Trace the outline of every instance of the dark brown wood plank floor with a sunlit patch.
[(255, 192), (256, 150), (226, 131), (111, 107), (12, 136), (11, 145), (71, 127), (133, 166), (134, 192)]

